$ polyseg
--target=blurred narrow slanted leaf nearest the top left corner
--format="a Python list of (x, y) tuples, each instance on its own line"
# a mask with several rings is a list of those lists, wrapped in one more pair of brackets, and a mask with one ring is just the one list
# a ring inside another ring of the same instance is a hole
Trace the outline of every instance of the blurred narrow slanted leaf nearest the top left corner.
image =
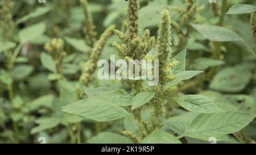
[(26, 20), (31, 18), (36, 18), (38, 16), (44, 15), (51, 10), (51, 7), (37, 7), (35, 11), (30, 12), (30, 14), (23, 16), (22, 18), (16, 21), (16, 24), (26, 22)]

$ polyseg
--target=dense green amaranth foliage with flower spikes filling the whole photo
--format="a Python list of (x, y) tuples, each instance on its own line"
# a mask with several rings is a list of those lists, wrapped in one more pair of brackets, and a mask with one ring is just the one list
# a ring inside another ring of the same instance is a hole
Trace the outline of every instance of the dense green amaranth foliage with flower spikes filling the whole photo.
[[(0, 143), (255, 143), (255, 11), (249, 0), (1, 0)], [(110, 55), (158, 60), (159, 82), (98, 79)]]

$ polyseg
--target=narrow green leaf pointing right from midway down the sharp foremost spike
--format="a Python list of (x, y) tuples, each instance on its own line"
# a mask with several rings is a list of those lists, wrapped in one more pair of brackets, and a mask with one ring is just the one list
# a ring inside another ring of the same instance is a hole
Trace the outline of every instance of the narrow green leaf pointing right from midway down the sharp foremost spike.
[(176, 74), (176, 79), (174, 79), (171, 82), (168, 82), (167, 83), (167, 87), (175, 86), (180, 81), (191, 79), (192, 77), (195, 77), (199, 73), (203, 73), (203, 71), (199, 71), (199, 70), (186, 70), (184, 72), (177, 73)]

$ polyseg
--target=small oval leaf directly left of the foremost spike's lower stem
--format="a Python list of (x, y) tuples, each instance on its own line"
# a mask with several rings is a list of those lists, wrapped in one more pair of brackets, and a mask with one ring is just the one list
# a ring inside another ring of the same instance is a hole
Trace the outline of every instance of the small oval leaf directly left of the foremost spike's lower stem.
[(154, 96), (154, 91), (143, 91), (142, 93), (137, 94), (133, 98), (133, 102), (131, 103), (131, 110), (135, 110), (136, 108), (143, 106), (148, 101), (150, 101)]

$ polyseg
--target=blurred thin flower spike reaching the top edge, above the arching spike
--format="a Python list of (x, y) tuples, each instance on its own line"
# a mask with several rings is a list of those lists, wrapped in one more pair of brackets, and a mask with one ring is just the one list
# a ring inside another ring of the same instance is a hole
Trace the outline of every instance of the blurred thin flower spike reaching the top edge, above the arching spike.
[(96, 42), (96, 31), (95, 26), (93, 24), (92, 16), (88, 10), (88, 2), (86, 0), (80, 0), (82, 9), (84, 10), (85, 16), (85, 27), (83, 29), (85, 33), (85, 43), (89, 45), (89, 47), (93, 48)]

